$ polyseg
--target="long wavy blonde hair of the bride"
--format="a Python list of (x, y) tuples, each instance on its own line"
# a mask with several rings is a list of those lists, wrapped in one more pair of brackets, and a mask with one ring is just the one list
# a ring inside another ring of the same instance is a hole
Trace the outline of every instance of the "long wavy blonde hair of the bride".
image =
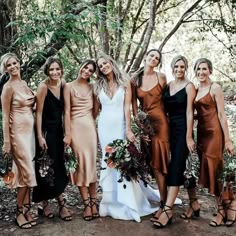
[(100, 71), (100, 69), (98, 67), (98, 60), (101, 58), (103, 58), (107, 62), (111, 63), (115, 82), (117, 83), (118, 86), (126, 89), (128, 81), (129, 81), (128, 74), (126, 74), (122, 69), (120, 69), (118, 64), (110, 56), (102, 53), (96, 59), (96, 64), (97, 64), (98, 70), (97, 70), (97, 79), (96, 79), (95, 85), (94, 85), (94, 93), (98, 96), (98, 94), (100, 93), (100, 91), (102, 89), (105, 91), (105, 93), (108, 92), (108, 79)]

